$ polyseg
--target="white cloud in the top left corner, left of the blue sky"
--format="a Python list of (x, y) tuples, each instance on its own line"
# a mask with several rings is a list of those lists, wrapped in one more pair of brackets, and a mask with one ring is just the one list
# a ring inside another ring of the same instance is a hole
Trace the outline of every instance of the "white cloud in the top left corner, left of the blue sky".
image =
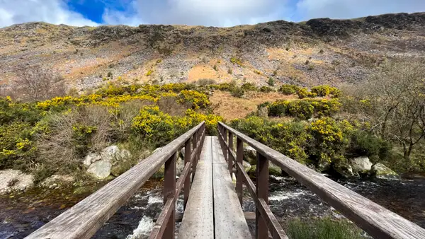
[(44, 21), (53, 24), (98, 25), (70, 11), (62, 0), (0, 0), (0, 27)]

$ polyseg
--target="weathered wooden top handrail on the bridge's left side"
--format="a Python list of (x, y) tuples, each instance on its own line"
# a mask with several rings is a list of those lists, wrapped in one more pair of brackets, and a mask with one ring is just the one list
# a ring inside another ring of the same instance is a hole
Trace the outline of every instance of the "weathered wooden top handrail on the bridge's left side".
[[(180, 192), (182, 185), (182, 183), (179, 183), (179, 190), (176, 191), (176, 152), (179, 151), (183, 145), (187, 146), (187, 142), (191, 141), (192, 137), (196, 140), (193, 141), (191, 159), (199, 158), (200, 146), (202, 146), (201, 139), (203, 139), (203, 136), (205, 136), (205, 122), (198, 124), (198, 126), (182, 134), (179, 138), (171, 141), (171, 143), (164, 146), (164, 148), (130, 168), (130, 170), (123, 173), (123, 175), (115, 178), (115, 180), (112, 180), (94, 194), (86, 197), (86, 199), (72, 206), (71, 209), (68, 209), (34, 233), (28, 235), (27, 238), (91, 238), (91, 236), (103, 226), (103, 223), (108, 221), (120, 206), (125, 204), (125, 202), (142, 187), (149, 177), (152, 177), (152, 175), (154, 175), (154, 173), (156, 173), (166, 162), (169, 163), (166, 163), (165, 171), (167, 172), (168, 170), (169, 174), (167, 175), (167, 173), (165, 173), (165, 180), (167, 182), (164, 184), (166, 185), (165, 187), (167, 187), (167, 184), (174, 181), (174, 189), (170, 190), (170, 188), (164, 187), (164, 198), (166, 202), (169, 202), (170, 198), (173, 199), (171, 201), (174, 201), (175, 194), (176, 192)], [(187, 150), (189, 150), (189, 148), (186, 148), (186, 151)], [(174, 166), (172, 165), (173, 163)], [(173, 167), (174, 178), (171, 178), (172, 176), (170, 177), (170, 175), (173, 175)], [(190, 165), (186, 163), (183, 177), (190, 176), (188, 168), (190, 168)], [(186, 188), (189, 189), (190, 187)], [(171, 194), (168, 195), (167, 193), (169, 192), (171, 192)], [(169, 204), (171, 204), (171, 202), (169, 202)], [(174, 215), (174, 204), (169, 205), (169, 209), (172, 210), (168, 210), (166, 216)], [(174, 232), (174, 218), (169, 220), (169, 217), (167, 217), (164, 221), (168, 221), (169, 223), (172, 221), (172, 231)], [(169, 228), (167, 227), (167, 229)], [(169, 231), (171, 230), (169, 229)], [(162, 233), (164, 233), (164, 231), (162, 231)], [(161, 233), (157, 233), (157, 235), (161, 235)]]

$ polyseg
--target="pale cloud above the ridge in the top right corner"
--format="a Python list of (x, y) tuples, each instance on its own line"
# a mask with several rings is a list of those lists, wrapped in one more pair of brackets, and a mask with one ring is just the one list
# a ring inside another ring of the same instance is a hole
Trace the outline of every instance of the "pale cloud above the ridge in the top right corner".
[(358, 18), (384, 13), (425, 11), (424, 0), (300, 0), (298, 20), (311, 18)]

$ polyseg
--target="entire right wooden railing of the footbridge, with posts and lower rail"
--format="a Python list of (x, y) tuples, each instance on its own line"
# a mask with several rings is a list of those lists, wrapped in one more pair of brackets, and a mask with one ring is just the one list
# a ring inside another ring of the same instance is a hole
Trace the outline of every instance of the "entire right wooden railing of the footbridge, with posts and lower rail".
[[(278, 165), (288, 175), (317, 194), (324, 202), (338, 210), (374, 238), (425, 238), (425, 230), (415, 223), (348, 190), (339, 183), (320, 175), (305, 165), (265, 146), (249, 136), (218, 124), (219, 141), (229, 165), (229, 173), (236, 168), (236, 192), (242, 205), (242, 184), (246, 185), (256, 205), (256, 238), (288, 238), (268, 206), (268, 163)], [(234, 152), (236, 137), (236, 152)], [(244, 142), (256, 149), (256, 184), (245, 173), (243, 166)]]

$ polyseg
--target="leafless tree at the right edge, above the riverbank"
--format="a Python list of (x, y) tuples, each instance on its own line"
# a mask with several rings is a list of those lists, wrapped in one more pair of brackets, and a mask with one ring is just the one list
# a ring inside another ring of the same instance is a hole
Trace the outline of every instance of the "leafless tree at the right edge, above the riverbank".
[(402, 146), (404, 158), (425, 138), (425, 62), (390, 62), (361, 87), (371, 130)]

